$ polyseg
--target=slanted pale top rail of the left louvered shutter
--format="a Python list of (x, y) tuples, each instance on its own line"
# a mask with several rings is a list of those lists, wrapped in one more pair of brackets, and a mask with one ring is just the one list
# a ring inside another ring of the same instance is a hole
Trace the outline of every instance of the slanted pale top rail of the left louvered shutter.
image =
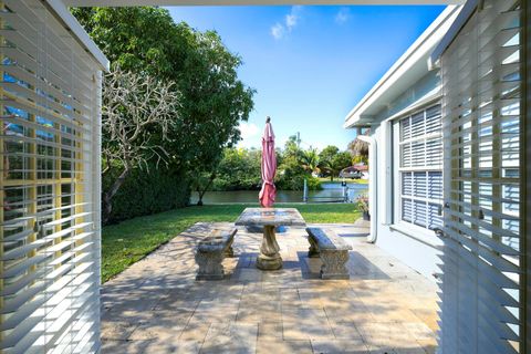
[(85, 32), (85, 29), (77, 22), (62, 0), (45, 0), (51, 11), (63, 23), (66, 31), (69, 31), (73, 38), (83, 46), (83, 49), (100, 64), (100, 67), (104, 71), (108, 71), (110, 63), (105, 54), (94, 43), (90, 35)]

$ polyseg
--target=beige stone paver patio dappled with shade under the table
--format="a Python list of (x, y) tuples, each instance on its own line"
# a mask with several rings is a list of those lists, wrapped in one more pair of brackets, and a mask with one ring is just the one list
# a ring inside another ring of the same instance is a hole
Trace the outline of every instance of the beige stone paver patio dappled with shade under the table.
[(366, 243), (366, 223), (330, 226), (354, 248), (351, 280), (333, 281), (319, 279), (304, 229), (278, 235), (283, 269), (264, 272), (254, 267), (262, 235), (244, 228), (227, 279), (196, 281), (195, 244), (210, 227), (103, 285), (103, 353), (435, 353), (436, 285)]

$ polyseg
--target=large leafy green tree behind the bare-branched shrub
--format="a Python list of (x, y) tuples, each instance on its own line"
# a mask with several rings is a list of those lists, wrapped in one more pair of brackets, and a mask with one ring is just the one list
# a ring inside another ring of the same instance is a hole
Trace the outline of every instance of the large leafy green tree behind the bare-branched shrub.
[[(199, 32), (175, 23), (160, 8), (72, 9), (88, 34), (125, 71), (175, 83), (179, 112), (158, 144), (168, 153), (169, 168), (214, 179), (225, 147), (240, 138), (240, 121), (253, 108), (254, 91), (239, 79), (241, 58), (231, 53), (214, 31)], [(106, 137), (104, 136), (104, 139)]]

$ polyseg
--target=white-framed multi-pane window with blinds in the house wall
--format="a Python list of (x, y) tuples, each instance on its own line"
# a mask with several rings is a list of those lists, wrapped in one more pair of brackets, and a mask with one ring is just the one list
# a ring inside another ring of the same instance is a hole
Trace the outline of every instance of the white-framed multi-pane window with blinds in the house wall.
[(395, 124), (398, 131), (398, 219), (426, 229), (442, 226), (440, 105)]

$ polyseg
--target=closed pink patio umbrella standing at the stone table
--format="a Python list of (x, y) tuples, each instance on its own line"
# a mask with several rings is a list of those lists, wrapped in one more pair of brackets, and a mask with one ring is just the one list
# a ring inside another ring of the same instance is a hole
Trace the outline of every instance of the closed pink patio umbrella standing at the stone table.
[(274, 174), (277, 173), (277, 155), (274, 154), (274, 134), (271, 118), (266, 121), (266, 129), (262, 136), (262, 189), (258, 195), (263, 208), (271, 208), (274, 204), (277, 188), (274, 187)]

